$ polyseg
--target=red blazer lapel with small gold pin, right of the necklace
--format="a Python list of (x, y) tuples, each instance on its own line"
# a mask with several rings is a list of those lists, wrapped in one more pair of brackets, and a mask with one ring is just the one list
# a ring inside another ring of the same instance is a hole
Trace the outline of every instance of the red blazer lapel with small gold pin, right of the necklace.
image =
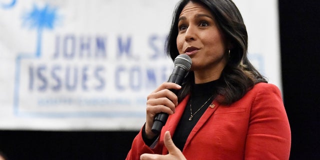
[(184, 148), (189, 144), (190, 140), (193, 138), (193, 136), (196, 134), (196, 132), (203, 126), (203, 124), (211, 117), (213, 112), (216, 110), (216, 108), (219, 106), (219, 103), (214, 99), (209, 107), (205, 110), (203, 115), (200, 117), (199, 121), (195, 124), (193, 129), (191, 130), (189, 136), (186, 139), (186, 142), (184, 144)]

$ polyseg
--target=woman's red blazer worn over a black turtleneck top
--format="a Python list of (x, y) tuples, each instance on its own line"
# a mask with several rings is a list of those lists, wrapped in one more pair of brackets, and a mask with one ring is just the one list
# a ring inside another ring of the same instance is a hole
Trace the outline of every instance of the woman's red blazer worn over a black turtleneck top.
[[(171, 136), (189, 96), (169, 115), (159, 141), (151, 149), (142, 140), (141, 130), (132, 142), (126, 159), (142, 153), (167, 154), (165, 130)], [(273, 84), (258, 83), (229, 106), (215, 100), (190, 132), (184, 148), (186, 159), (288, 159), (291, 135), (280, 90)]]

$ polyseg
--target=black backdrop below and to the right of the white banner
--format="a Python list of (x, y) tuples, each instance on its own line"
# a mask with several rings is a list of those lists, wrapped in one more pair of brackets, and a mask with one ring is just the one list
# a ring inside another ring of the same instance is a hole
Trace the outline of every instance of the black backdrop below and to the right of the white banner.
[[(320, 159), (320, 0), (279, 0), (290, 159)], [(272, 63), (272, 61), (270, 61)], [(0, 130), (8, 159), (124, 159), (137, 131)]]

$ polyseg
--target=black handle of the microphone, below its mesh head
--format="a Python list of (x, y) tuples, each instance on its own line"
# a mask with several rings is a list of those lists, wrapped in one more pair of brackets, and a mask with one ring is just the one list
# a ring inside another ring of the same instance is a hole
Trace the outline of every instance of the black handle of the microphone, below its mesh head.
[[(176, 66), (176, 67), (174, 67), (172, 74), (169, 77), (168, 82), (174, 82), (176, 84), (181, 85), (186, 73), (187, 73), (186, 69), (184, 69), (183, 67), (180, 67), (180, 66)], [(175, 90), (175, 89), (169, 89), (169, 90), (171, 90), (175, 95), (178, 92), (178, 90)], [(162, 126), (165, 124), (166, 120), (168, 119), (168, 116), (169, 115), (164, 112), (157, 113), (154, 116), (151, 131), (153, 133), (159, 134), (162, 129)]]

